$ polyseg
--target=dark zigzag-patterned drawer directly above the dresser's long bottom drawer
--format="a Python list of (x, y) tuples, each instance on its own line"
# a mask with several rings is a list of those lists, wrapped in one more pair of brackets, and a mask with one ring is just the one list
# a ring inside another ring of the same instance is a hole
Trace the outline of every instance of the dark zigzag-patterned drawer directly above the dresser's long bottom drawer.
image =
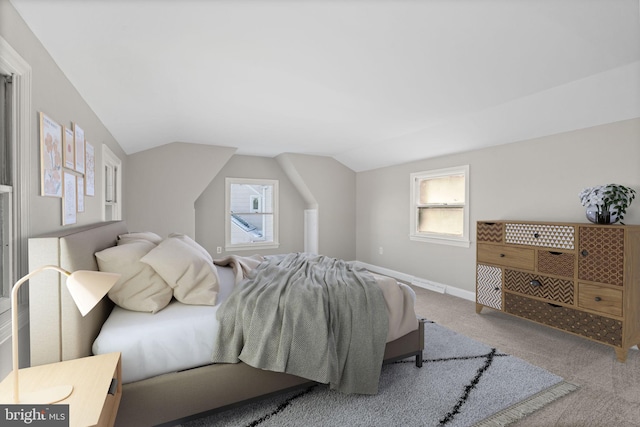
[[(532, 284), (533, 283), (533, 284)], [(506, 290), (520, 294), (544, 298), (554, 302), (573, 304), (573, 281), (505, 270), (504, 286)]]

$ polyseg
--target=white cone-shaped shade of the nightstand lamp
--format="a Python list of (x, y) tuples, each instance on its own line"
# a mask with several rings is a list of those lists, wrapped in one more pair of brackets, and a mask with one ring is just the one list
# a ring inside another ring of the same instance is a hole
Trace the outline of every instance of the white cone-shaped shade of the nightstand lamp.
[(109, 292), (118, 278), (119, 274), (88, 270), (74, 271), (67, 277), (67, 288), (83, 317)]

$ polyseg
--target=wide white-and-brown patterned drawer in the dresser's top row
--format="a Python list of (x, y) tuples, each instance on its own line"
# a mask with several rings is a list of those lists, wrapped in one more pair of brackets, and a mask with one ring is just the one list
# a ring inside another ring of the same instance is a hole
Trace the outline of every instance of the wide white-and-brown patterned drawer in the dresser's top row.
[(505, 241), (514, 245), (575, 249), (575, 227), (553, 224), (505, 224)]

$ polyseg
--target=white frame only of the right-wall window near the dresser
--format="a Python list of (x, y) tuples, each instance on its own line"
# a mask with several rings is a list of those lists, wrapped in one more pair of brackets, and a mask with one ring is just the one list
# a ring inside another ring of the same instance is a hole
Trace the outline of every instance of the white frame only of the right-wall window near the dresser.
[[(463, 206), (463, 232), (462, 236), (452, 236), (445, 233), (418, 232), (418, 211), (420, 201), (420, 181), (424, 179), (443, 178), (451, 175), (464, 175), (464, 206)], [(444, 169), (435, 169), (411, 174), (410, 197), (410, 231), (409, 239), (416, 242), (439, 243), (444, 245), (460, 246), (468, 248), (469, 241), (469, 165), (456, 166)]]

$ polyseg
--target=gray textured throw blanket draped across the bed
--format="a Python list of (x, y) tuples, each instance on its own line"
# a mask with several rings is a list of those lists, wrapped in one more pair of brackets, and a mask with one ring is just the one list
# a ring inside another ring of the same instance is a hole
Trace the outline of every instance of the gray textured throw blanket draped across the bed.
[(388, 315), (373, 276), (322, 255), (268, 257), (218, 309), (213, 362), (375, 394)]

